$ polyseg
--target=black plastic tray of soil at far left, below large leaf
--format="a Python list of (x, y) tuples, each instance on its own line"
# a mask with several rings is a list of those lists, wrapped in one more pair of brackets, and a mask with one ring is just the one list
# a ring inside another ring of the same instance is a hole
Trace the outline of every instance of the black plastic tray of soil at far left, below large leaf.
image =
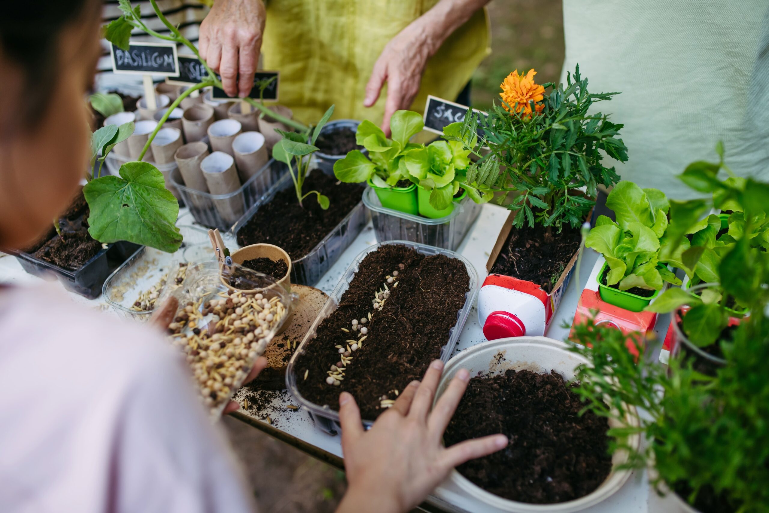
[(52, 227), (27, 248), (9, 252), (29, 274), (44, 277), (52, 273), (68, 290), (97, 298), (107, 277), (140, 246), (130, 242), (102, 245), (88, 234), (88, 215), (88, 204), (78, 191), (58, 218), (61, 235)]

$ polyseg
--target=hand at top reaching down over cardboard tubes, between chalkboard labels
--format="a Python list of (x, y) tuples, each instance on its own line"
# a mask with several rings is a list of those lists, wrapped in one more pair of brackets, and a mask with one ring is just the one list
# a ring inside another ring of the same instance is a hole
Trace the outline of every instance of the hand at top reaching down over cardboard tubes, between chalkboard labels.
[(261, 0), (216, 0), (200, 24), (199, 52), (230, 96), (248, 96), (265, 32)]

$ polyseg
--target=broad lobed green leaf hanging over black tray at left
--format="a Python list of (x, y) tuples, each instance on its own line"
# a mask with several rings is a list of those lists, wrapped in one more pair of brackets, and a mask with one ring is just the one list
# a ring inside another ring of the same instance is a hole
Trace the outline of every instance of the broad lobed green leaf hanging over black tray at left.
[(92, 180), (83, 194), (91, 211), (88, 233), (98, 242), (128, 241), (169, 253), (181, 245), (178, 202), (154, 165), (127, 162), (120, 177)]

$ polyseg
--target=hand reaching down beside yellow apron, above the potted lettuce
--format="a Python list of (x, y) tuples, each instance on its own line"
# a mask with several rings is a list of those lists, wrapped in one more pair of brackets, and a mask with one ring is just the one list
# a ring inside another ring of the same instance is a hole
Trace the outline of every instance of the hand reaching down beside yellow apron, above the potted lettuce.
[(366, 85), (363, 105), (371, 107), (379, 98), (382, 85), (387, 81), (387, 101), (381, 129), (390, 135), (390, 118), (395, 111), (411, 107), (419, 92), (422, 72), (436, 44), (421, 19), (408, 25), (384, 46)]

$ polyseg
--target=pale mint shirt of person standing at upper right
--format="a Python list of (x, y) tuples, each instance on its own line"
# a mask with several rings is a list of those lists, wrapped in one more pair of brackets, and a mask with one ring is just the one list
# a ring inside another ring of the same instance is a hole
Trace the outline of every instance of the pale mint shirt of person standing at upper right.
[(767, 0), (564, 0), (564, 35), (562, 82), (579, 64), (621, 92), (594, 110), (625, 125), (622, 178), (689, 198), (676, 175), (722, 139), (737, 175), (769, 179)]

